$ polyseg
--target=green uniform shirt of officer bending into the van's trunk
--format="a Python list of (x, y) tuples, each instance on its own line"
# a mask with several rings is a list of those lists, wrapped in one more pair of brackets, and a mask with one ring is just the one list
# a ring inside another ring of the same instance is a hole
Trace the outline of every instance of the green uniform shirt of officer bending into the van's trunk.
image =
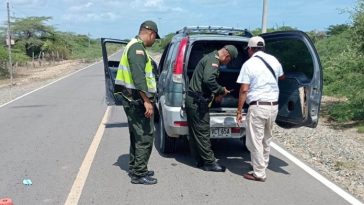
[(190, 81), (189, 90), (202, 93), (204, 97), (224, 93), (224, 87), (217, 83), (219, 77), (219, 57), (217, 51), (204, 56), (197, 64)]

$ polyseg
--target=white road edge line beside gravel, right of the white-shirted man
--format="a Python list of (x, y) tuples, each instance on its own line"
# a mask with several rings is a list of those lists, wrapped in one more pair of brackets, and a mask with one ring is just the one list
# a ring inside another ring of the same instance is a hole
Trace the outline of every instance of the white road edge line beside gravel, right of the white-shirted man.
[(287, 157), (289, 160), (291, 160), (293, 163), (295, 163), (297, 166), (299, 166), (301, 169), (303, 169), (305, 172), (307, 172), (308, 174), (310, 174), (311, 176), (313, 176), (315, 179), (317, 179), (318, 181), (320, 181), (326, 187), (328, 187), (329, 189), (331, 189), (332, 191), (334, 191), (336, 194), (338, 194), (339, 196), (341, 196), (343, 199), (345, 199), (346, 201), (348, 201), (350, 204), (358, 204), (358, 205), (359, 204), (361, 204), (361, 205), (363, 204), (358, 199), (356, 199), (355, 197), (353, 197), (352, 195), (350, 195), (349, 193), (347, 193), (346, 191), (344, 191), (343, 189), (341, 189), (340, 187), (338, 187), (336, 184), (334, 184), (331, 181), (329, 181), (328, 179), (326, 179), (321, 174), (317, 173), (311, 167), (309, 167), (306, 164), (304, 164), (303, 162), (301, 162), (299, 159), (297, 159), (296, 157), (294, 157), (292, 154), (288, 153), (286, 150), (284, 150), (283, 148), (281, 148), (277, 144), (275, 144), (275, 143), (272, 142), (271, 143), (271, 146), (272, 146), (272, 148), (274, 148), (275, 150), (277, 150), (278, 152), (280, 152), (282, 155), (284, 155), (285, 157)]

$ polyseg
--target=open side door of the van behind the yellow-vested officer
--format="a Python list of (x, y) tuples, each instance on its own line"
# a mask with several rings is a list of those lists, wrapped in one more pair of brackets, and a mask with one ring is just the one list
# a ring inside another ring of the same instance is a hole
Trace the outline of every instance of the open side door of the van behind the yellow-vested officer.
[(114, 96), (116, 72), (121, 55), (128, 41), (101, 38), (102, 58), (105, 73), (105, 100), (107, 105), (122, 105), (121, 99)]

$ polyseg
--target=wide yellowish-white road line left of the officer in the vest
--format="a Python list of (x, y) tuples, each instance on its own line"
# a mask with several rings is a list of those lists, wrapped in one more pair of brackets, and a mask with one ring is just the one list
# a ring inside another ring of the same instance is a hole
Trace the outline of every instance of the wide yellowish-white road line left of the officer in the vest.
[(92, 143), (81, 164), (77, 177), (76, 177), (75, 181), (73, 182), (71, 191), (68, 194), (66, 202), (64, 203), (65, 205), (77, 205), (78, 204), (78, 200), (80, 199), (80, 196), (82, 194), (82, 190), (85, 185), (88, 174), (90, 172), (92, 162), (94, 161), (97, 148), (99, 147), (102, 136), (104, 135), (105, 124), (107, 123), (107, 120), (109, 119), (110, 110), (111, 110), (111, 106), (108, 106), (106, 109), (106, 112), (104, 114), (104, 117), (102, 118), (101, 124), (100, 124), (99, 128), (97, 129), (94, 139), (92, 140)]

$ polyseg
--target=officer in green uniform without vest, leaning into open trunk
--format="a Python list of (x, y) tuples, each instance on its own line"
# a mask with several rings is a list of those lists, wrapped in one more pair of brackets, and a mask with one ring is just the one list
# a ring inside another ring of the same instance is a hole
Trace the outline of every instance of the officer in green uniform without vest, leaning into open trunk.
[(209, 106), (212, 100), (230, 91), (217, 83), (220, 64), (228, 64), (238, 51), (226, 45), (204, 56), (197, 64), (186, 96), (186, 112), (189, 126), (189, 144), (197, 167), (205, 171), (224, 172), (225, 167), (216, 162), (210, 142)]

